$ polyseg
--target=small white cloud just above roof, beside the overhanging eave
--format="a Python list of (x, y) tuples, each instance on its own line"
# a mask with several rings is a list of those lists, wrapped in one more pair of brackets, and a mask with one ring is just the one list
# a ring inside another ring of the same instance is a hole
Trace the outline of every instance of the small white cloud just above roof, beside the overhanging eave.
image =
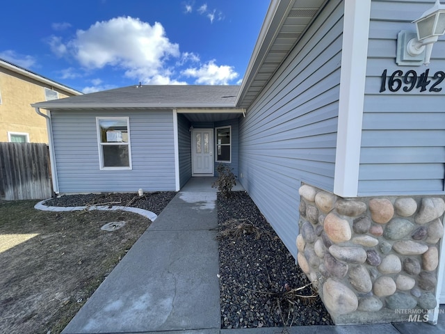
[(186, 77), (196, 78), (196, 84), (204, 85), (228, 85), (238, 77), (238, 73), (234, 71), (234, 67), (228, 65), (216, 65), (215, 61), (209, 61), (200, 68), (188, 68), (182, 74)]

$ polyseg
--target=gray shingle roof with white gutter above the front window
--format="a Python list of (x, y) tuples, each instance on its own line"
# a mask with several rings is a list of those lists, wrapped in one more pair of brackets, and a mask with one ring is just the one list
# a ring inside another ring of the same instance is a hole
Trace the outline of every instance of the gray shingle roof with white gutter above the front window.
[(239, 86), (136, 85), (32, 104), (42, 109), (234, 108)]

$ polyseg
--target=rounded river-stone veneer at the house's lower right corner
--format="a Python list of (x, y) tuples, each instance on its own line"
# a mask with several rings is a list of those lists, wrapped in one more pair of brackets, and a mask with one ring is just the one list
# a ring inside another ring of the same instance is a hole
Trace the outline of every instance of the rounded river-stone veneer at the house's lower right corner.
[(436, 307), (442, 198), (344, 199), (307, 184), (299, 193), (297, 261), (336, 324), (407, 321)]

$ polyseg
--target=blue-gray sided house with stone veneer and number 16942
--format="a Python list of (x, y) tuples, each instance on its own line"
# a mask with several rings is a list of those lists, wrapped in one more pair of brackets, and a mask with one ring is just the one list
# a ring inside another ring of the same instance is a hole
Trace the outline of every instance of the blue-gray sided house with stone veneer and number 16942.
[(419, 312), (434, 322), (445, 303), (445, 42), (428, 67), (403, 45), (433, 4), (274, 0), (240, 87), (33, 104), (48, 110), (54, 189), (179, 190), (230, 164), (336, 324)]

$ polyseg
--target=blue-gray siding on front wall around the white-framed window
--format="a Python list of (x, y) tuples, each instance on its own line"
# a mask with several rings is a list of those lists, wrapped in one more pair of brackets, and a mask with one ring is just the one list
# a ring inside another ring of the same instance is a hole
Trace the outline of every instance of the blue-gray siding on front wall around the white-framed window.
[[(172, 111), (53, 111), (60, 193), (175, 190)], [(100, 170), (96, 117), (129, 117), (131, 170)]]

